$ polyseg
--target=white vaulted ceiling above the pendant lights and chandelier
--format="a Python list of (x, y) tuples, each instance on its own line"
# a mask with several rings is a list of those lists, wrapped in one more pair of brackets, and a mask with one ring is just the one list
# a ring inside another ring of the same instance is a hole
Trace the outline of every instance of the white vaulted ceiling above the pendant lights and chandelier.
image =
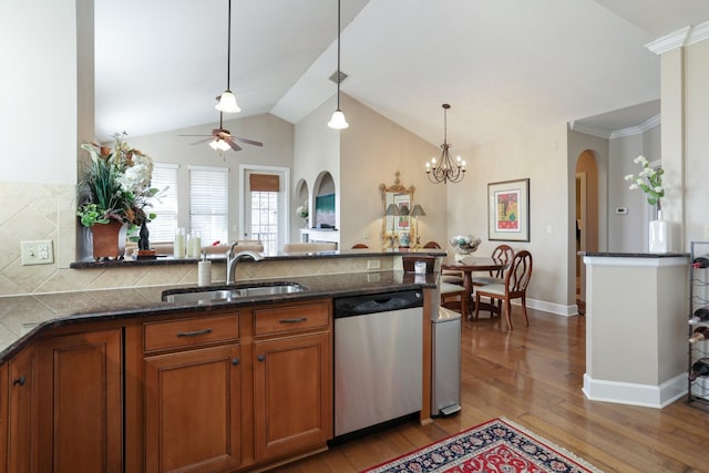
[[(337, 69), (336, 0), (232, 1), (230, 88), (243, 110), (234, 117), (273, 113), (297, 123), (336, 93), (328, 79)], [(95, 0), (99, 138), (218, 121), (227, 6)], [(342, 92), (434, 145), (448, 102), (449, 141), (459, 150), (564, 121), (617, 130), (650, 120), (659, 56), (645, 45), (709, 20), (705, 0), (342, 0), (341, 8)]]

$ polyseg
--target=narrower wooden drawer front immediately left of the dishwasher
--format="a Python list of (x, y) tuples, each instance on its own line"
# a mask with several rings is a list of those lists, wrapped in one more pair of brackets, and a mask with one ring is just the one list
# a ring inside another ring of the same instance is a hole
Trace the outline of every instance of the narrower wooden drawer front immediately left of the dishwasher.
[(278, 309), (254, 310), (254, 335), (280, 335), (300, 330), (327, 329), (329, 326), (327, 302)]

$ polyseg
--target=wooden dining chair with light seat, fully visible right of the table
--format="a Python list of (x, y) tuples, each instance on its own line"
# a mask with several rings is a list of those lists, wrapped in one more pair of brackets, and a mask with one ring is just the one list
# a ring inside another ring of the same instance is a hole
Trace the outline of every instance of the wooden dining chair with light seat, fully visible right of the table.
[(527, 317), (526, 291), (532, 278), (532, 254), (526, 249), (517, 251), (512, 257), (512, 263), (505, 273), (504, 284), (491, 284), (475, 289), (475, 318), (480, 310), (480, 298), (490, 297), (497, 299), (497, 306), (502, 313), (502, 302), (505, 302), (504, 313), (507, 329), (512, 330), (512, 300), (521, 299), (524, 320), (530, 326)]

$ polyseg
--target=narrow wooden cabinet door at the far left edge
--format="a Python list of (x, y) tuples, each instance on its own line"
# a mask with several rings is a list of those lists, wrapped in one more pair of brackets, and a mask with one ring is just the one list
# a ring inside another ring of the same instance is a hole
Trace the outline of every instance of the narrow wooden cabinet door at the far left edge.
[(10, 361), (8, 473), (38, 472), (37, 350), (28, 347)]

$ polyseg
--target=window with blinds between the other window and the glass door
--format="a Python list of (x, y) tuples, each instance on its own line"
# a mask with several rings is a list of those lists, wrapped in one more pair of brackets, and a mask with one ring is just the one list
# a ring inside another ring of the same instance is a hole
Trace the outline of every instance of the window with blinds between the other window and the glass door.
[(189, 166), (189, 229), (202, 245), (228, 240), (228, 169)]

